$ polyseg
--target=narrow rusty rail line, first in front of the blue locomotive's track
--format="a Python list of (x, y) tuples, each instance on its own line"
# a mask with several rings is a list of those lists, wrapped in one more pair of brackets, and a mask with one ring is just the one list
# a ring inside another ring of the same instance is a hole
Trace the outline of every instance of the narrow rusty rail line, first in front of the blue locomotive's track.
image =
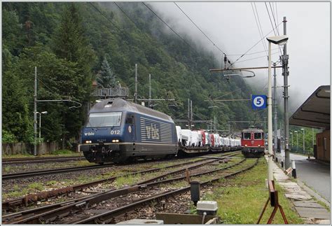
[[(234, 152), (234, 153), (223, 153), (220, 155), (220, 157), (232, 157), (234, 155), (238, 155), (241, 152)], [(220, 160), (219, 158), (216, 158), (216, 160)], [(105, 178), (102, 180), (98, 180), (98, 181), (92, 181), (89, 183), (83, 183), (80, 185), (73, 185), (73, 186), (68, 186), (68, 187), (64, 187), (64, 188), (59, 188), (59, 189), (55, 189), (55, 190), (50, 190), (50, 191), (46, 191), (46, 192), (39, 192), (36, 194), (32, 194), (32, 195), (26, 195), (25, 197), (22, 198), (18, 198), (18, 199), (11, 199), (8, 200), (6, 202), (2, 202), (2, 209), (5, 211), (11, 211), (13, 209), (17, 209), (19, 206), (28, 206), (30, 204), (35, 204), (36, 202), (40, 202), (43, 200), (47, 200), (50, 199), (52, 197), (57, 197), (59, 195), (63, 195), (63, 194), (69, 194), (71, 192), (78, 192), (78, 191), (82, 191), (86, 188), (91, 188), (95, 185), (99, 185), (102, 183), (111, 183), (113, 181), (115, 181), (117, 178), (120, 177), (125, 177), (125, 176), (134, 176), (137, 174), (148, 174), (148, 173), (153, 173), (155, 171), (160, 171), (162, 169), (170, 169), (170, 168), (174, 168), (174, 167), (180, 167), (180, 166), (185, 166), (186, 164), (194, 164), (194, 163), (199, 163), (199, 162), (203, 162), (205, 161), (203, 160), (196, 160), (193, 162), (186, 162), (186, 163), (181, 163), (181, 164), (174, 164), (168, 167), (161, 167), (161, 168), (155, 168), (155, 169), (148, 169), (148, 170), (144, 170), (144, 171), (137, 171), (137, 172), (133, 172), (130, 174), (124, 174), (124, 175), (120, 175), (120, 176), (113, 176), (111, 178)]]

